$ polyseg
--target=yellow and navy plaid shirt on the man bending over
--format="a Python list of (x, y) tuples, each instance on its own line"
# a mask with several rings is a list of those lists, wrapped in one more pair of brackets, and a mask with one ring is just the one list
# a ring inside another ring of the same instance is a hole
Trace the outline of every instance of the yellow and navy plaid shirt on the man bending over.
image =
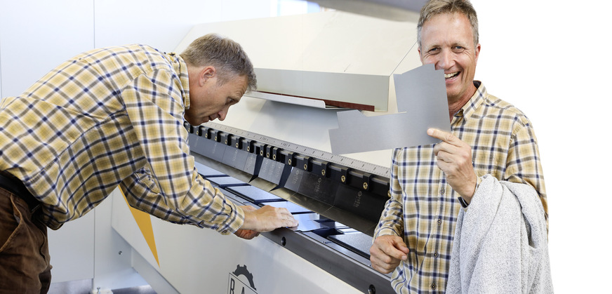
[(201, 178), (183, 127), (187, 65), (143, 45), (67, 60), (0, 105), (0, 171), (42, 202), (52, 229), (120, 185), (131, 206), (230, 234), (244, 212)]

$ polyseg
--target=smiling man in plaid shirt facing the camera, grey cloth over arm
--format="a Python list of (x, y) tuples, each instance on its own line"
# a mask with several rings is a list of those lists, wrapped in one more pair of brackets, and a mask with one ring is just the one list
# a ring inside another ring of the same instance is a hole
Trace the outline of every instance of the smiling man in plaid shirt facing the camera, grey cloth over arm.
[[(393, 272), (392, 286), (397, 293), (448, 289), (458, 220), (463, 220), (472, 200), (479, 198), (479, 207), (486, 206), (486, 199), (495, 195), (489, 192), (500, 183), (517, 183), (533, 192), (535, 209), (541, 209), (543, 224), (547, 220), (533, 127), (519, 109), (488, 94), (481, 81), (474, 81), (481, 50), (478, 39), (477, 15), (469, 1), (430, 0), (423, 6), (418, 53), (423, 64), (444, 70), (451, 133), (430, 129), (428, 135), (439, 139), (438, 144), (394, 150), (391, 198), (375, 229), (370, 253), (374, 269)], [(511, 276), (507, 273), (515, 270), (499, 268), (501, 276)], [(468, 272), (458, 276), (470, 281)], [(486, 292), (478, 286), (469, 290)]]

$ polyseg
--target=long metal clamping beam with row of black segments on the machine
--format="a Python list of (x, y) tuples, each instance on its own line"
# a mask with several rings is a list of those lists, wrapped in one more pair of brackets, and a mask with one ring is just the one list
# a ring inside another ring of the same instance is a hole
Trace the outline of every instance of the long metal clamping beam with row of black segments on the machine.
[(208, 126), (185, 128), (206, 165), (373, 236), (389, 178)]

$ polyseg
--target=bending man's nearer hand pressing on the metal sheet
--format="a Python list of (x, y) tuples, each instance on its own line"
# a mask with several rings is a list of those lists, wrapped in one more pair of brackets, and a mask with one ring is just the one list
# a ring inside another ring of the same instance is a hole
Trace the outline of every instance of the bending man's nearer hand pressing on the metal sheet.
[[(244, 207), (243, 207), (244, 208)], [(293, 218), (286, 208), (263, 206), (262, 208), (244, 210), (244, 223), (240, 229), (255, 232), (270, 232), (279, 227), (297, 227), (298, 220)]]

